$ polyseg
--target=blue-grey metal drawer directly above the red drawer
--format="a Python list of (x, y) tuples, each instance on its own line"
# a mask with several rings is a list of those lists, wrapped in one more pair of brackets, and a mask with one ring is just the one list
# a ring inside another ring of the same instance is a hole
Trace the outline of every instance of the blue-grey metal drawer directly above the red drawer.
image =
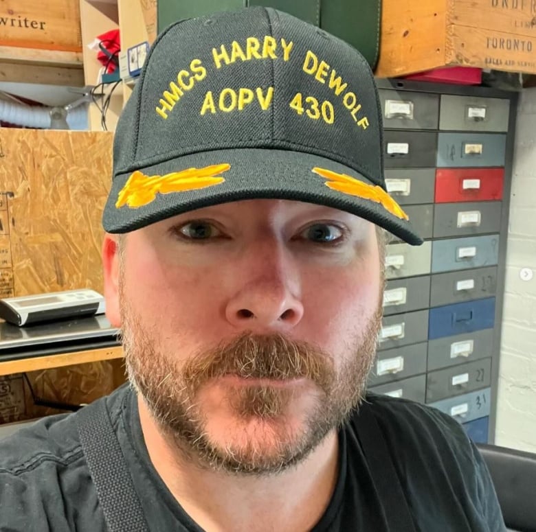
[(503, 133), (439, 133), (438, 167), (503, 166), (506, 135)]

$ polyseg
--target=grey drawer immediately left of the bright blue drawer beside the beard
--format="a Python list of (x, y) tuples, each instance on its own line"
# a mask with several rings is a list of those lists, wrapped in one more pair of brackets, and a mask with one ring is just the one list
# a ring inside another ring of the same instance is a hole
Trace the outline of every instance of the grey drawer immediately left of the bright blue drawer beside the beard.
[(383, 316), (378, 339), (378, 351), (402, 345), (425, 342), (428, 339), (428, 311)]

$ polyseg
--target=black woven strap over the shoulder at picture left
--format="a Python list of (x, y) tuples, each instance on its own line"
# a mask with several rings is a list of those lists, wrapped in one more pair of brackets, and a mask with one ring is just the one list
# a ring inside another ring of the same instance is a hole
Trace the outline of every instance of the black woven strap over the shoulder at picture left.
[(104, 399), (76, 413), (78, 434), (110, 532), (148, 532)]

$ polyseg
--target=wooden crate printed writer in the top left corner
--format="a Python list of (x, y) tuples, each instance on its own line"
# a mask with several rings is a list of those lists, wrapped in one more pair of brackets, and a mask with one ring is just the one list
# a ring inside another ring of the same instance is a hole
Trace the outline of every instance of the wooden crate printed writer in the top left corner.
[(78, 0), (1, 0), (0, 46), (82, 51)]

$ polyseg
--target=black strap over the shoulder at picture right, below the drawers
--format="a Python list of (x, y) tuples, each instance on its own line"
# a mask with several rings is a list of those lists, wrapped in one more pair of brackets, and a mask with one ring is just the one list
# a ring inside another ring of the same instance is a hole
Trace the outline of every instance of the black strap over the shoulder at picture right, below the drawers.
[(397, 532), (416, 532), (392, 456), (372, 408), (372, 404), (363, 402), (359, 406), (359, 413), (353, 417), (353, 422), (370, 476), (383, 505), (388, 527)]

